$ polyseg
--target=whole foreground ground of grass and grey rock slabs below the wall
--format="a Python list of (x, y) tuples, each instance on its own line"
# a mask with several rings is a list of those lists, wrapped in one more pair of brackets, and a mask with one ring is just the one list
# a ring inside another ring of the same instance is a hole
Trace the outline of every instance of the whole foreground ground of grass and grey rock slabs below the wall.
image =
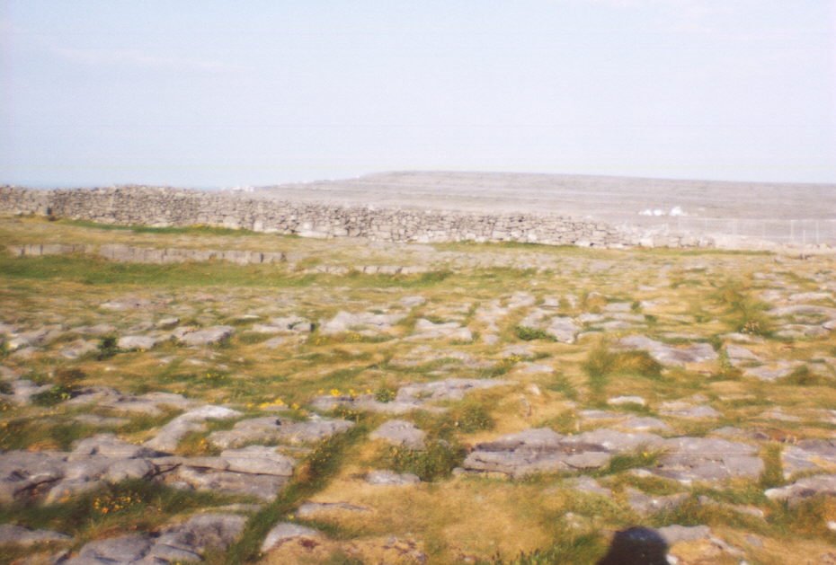
[(284, 258), (0, 255), (0, 562), (836, 562), (832, 256), (0, 237)]

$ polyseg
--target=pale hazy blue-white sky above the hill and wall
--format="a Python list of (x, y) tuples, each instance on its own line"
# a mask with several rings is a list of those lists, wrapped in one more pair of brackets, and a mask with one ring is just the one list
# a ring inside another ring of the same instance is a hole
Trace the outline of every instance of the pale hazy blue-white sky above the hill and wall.
[(834, 0), (0, 0), (0, 183), (836, 182)]

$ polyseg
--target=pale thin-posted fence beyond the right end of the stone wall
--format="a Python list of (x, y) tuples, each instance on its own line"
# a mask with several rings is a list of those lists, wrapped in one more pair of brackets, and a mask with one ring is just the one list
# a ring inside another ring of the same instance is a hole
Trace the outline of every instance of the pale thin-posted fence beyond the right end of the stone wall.
[(627, 221), (621, 225), (627, 229), (650, 230), (661, 234), (725, 235), (794, 245), (836, 245), (836, 218), (785, 220), (664, 216)]

